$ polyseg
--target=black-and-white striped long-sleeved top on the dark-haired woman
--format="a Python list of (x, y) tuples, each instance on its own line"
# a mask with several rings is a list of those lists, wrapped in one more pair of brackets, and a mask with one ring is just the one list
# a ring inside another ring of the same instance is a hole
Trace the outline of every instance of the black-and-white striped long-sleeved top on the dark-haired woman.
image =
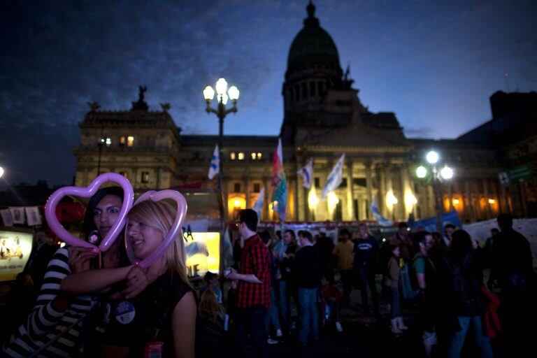
[[(48, 264), (36, 306), (31, 310), (27, 320), (13, 333), (2, 351), (8, 357), (28, 357), (58, 334), (65, 331), (73, 322), (85, 317), (90, 312), (94, 301), (91, 296), (76, 296), (69, 307), (60, 312), (52, 307), (60, 293), (62, 280), (71, 274), (69, 253), (60, 248)], [(83, 320), (71, 327), (57, 341), (45, 348), (39, 357), (71, 357), (82, 331)]]

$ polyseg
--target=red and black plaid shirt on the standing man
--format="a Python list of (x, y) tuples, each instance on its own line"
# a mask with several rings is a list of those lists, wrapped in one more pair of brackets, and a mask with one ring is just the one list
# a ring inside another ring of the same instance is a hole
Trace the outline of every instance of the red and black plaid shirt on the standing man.
[(254, 274), (262, 283), (238, 280), (237, 307), (249, 308), (259, 305), (269, 308), (271, 306), (271, 252), (268, 251), (259, 235), (255, 234), (244, 242), (238, 273)]

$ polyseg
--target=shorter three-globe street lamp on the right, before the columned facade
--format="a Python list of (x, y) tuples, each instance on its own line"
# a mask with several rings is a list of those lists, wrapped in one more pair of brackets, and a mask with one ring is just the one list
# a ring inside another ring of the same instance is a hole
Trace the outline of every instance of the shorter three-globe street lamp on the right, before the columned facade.
[[(447, 164), (438, 170), (438, 162), (440, 161), (440, 155), (438, 152), (431, 150), (425, 155), (427, 160), (427, 166), (420, 165), (416, 169), (417, 178), (427, 180), (433, 185), (434, 192), (434, 203), (436, 206), (436, 227), (438, 232), (442, 232), (442, 204), (440, 198), (440, 186), (443, 182), (453, 178), (453, 169), (451, 169)], [(430, 172), (430, 173), (429, 173)]]

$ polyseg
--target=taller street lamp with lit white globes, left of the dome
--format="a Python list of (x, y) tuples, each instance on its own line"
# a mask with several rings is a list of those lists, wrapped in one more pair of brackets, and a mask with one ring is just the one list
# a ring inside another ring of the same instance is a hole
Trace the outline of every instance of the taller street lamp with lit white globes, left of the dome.
[[(205, 101), (207, 103), (207, 107), (205, 109), (207, 113), (215, 113), (215, 115), (217, 115), (218, 117), (218, 157), (220, 158), (218, 188), (222, 191), (222, 176), (224, 175), (224, 170), (222, 166), (222, 162), (224, 162), (222, 158), (222, 145), (224, 142), (224, 118), (229, 113), (236, 113), (239, 92), (238, 88), (235, 86), (229, 87), (228, 90), (227, 82), (226, 80), (224, 80), (224, 78), (220, 78), (216, 81), (215, 88), (217, 93), (217, 108), (213, 108), (210, 106), (210, 102), (213, 101), (213, 98), (215, 96), (215, 90), (213, 90), (213, 87), (205, 87), (205, 90), (203, 90), (203, 97), (205, 98)], [(233, 107), (231, 108), (226, 108), (228, 99), (231, 99), (231, 103), (233, 104)]]

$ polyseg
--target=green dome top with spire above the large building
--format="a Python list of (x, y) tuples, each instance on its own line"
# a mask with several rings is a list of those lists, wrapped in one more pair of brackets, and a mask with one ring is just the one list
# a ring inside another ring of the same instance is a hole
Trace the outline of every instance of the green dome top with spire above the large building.
[(287, 71), (310, 64), (327, 64), (341, 69), (336, 44), (328, 32), (320, 27), (319, 19), (315, 17), (315, 6), (311, 1), (307, 10), (308, 17), (304, 20), (304, 27), (296, 35), (289, 49)]

